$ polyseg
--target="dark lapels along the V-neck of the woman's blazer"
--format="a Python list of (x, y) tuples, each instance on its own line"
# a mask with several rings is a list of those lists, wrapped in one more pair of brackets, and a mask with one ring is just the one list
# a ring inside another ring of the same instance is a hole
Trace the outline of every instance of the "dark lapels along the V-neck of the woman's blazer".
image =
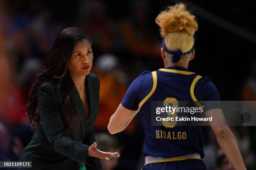
[(81, 117), (81, 121), (80, 121), (80, 128), (82, 131), (82, 139), (84, 139), (84, 136), (86, 135), (86, 125), (87, 125), (87, 121), (91, 119), (92, 114), (93, 114), (93, 94), (92, 94), (92, 90), (93, 90), (93, 85), (92, 82), (90, 80), (90, 75), (86, 75), (85, 77), (85, 85), (86, 85), (86, 90), (88, 92), (88, 96), (89, 96), (89, 105), (90, 105), (90, 115), (87, 118), (87, 115), (85, 113), (84, 110), (84, 105), (82, 103), (82, 100), (80, 98), (79, 92), (77, 91), (77, 87), (74, 84), (74, 81), (71, 79), (72, 81), (72, 87), (71, 87), (71, 91), (70, 91), (70, 95), (72, 97), (72, 107), (74, 108), (74, 112), (77, 113), (77, 115), (79, 115), (79, 117)]

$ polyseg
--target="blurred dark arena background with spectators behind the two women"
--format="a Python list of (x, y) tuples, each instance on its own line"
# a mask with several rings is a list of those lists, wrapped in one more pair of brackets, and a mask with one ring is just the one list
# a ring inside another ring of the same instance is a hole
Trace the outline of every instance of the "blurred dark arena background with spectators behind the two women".
[[(140, 114), (123, 133), (107, 125), (129, 84), (143, 71), (164, 67), (155, 18), (174, 0), (0, 0), (0, 160), (19, 160), (33, 133), (25, 115), (28, 92), (56, 35), (78, 27), (92, 39), (92, 72), (100, 79), (95, 124), (100, 149), (121, 154), (102, 160), (104, 170), (140, 170)], [(195, 59), (189, 70), (208, 76), (221, 100), (256, 99), (256, 1), (178, 1), (196, 15)], [(230, 127), (248, 170), (256, 170), (256, 128)], [(209, 127), (203, 127), (209, 170), (232, 170)]]

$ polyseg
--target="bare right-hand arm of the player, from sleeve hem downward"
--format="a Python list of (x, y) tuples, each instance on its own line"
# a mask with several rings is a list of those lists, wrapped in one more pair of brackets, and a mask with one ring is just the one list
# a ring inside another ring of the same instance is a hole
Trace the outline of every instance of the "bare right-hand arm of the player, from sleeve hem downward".
[(209, 122), (220, 148), (236, 170), (246, 170), (241, 152), (232, 131), (225, 125), (225, 119), (221, 109), (212, 109), (205, 112), (206, 117), (212, 117), (215, 122)]

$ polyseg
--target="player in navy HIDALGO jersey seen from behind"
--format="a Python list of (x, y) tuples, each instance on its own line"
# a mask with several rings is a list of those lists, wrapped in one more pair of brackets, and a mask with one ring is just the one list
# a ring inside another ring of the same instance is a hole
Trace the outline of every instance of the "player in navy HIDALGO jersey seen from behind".
[[(151, 101), (165, 101), (173, 105), (178, 105), (179, 101), (220, 101), (218, 89), (207, 77), (187, 69), (195, 55), (193, 35), (197, 22), (184, 4), (177, 4), (162, 11), (156, 23), (163, 37), (161, 56), (165, 68), (145, 71), (131, 83), (110, 118), (108, 130), (111, 134), (124, 130), (140, 111), (145, 131), (143, 170), (204, 170), (200, 126), (175, 126), (175, 122), (151, 126)], [(207, 117), (223, 118), (218, 105), (205, 107), (204, 110)], [(234, 167), (245, 170), (236, 139), (228, 126), (212, 125), (212, 129)]]

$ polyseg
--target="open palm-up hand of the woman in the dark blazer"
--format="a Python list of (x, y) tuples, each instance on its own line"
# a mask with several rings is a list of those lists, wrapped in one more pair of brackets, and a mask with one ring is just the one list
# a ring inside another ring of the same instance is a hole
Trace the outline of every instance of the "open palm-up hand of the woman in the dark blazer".
[(106, 153), (97, 149), (97, 143), (94, 142), (88, 149), (87, 156), (109, 160), (110, 158), (119, 157), (119, 153)]

